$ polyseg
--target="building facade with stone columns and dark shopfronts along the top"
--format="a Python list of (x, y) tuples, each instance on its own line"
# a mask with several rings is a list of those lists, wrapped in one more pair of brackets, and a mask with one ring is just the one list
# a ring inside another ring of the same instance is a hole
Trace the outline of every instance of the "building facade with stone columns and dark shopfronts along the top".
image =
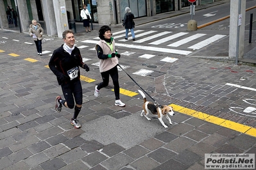
[[(214, 3), (216, 0), (198, 0), (196, 5)], [(219, 0), (218, 0), (219, 1)], [(6, 6), (18, 12), (21, 32), (27, 32), (31, 20), (37, 20), (49, 36), (62, 37), (71, 22), (82, 22), (80, 11), (87, 5), (92, 22), (121, 24), (124, 9), (131, 8), (135, 18), (178, 11), (191, 5), (187, 0), (0, 0), (0, 28), (12, 29), (6, 17)], [(17, 28), (16, 28), (17, 29)]]

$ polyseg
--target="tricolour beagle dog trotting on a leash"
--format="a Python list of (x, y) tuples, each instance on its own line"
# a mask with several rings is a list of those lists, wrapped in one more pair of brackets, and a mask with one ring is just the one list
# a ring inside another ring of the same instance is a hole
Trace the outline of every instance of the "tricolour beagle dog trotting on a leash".
[(164, 121), (162, 120), (162, 118), (164, 116), (166, 116), (167, 120), (169, 120), (169, 123), (171, 125), (173, 125), (173, 123), (171, 123), (171, 119), (169, 118), (168, 114), (170, 116), (175, 115), (175, 112), (173, 112), (173, 107), (169, 106), (169, 105), (155, 105), (152, 102), (147, 102), (146, 100), (146, 96), (144, 95), (144, 93), (139, 90), (139, 93), (141, 93), (143, 99), (144, 99), (144, 104), (143, 104), (143, 110), (141, 111), (141, 116), (143, 116), (143, 112), (144, 112), (144, 116), (147, 118), (147, 120), (151, 120), (150, 118), (148, 118), (148, 114), (149, 111), (152, 114), (157, 114), (158, 120), (162, 123), (162, 125), (167, 128), (166, 124), (164, 124)]

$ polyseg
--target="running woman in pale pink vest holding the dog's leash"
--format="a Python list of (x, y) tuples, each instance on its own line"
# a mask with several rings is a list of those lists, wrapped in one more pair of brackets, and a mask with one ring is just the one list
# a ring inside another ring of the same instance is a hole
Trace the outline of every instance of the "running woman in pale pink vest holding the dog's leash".
[(111, 28), (102, 26), (99, 29), (99, 42), (96, 44), (96, 54), (99, 58), (99, 72), (103, 82), (95, 86), (94, 96), (99, 96), (99, 90), (108, 86), (109, 76), (112, 78), (115, 93), (115, 105), (124, 107), (125, 104), (120, 100), (120, 88), (118, 81), (118, 59), (121, 57), (115, 50), (115, 40), (112, 37)]

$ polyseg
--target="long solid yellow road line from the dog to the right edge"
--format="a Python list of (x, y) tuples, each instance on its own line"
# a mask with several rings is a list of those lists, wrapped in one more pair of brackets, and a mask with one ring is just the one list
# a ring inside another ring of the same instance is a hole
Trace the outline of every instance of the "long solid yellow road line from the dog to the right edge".
[(214, 123), (216, 125), (220, 125), (221, 127), (230, 128), (232, 130), (235, 130), (237, 132), (242, 132), (247, 135), (252, 135), (253, 137), (256, 137), (256, 128), (249, 127), (247, 125), (243, 125), (240, 123), (236, 123), (234, 121), (225, 120), (223, 118), (218, 118), (216, 116), (212, 116), (210, 114), (206, 114), (203, 112), (198, 112), (192, 109), (188, 109), (185, 107), (182, 107), (180, 105), (176, 104), (170, 104), (173, 109), (177, 112), (181, 112), (183, 114), (187, 114), (189, 116), (193, 116), (194, 118), (198, 118), (200, 120), (205, 120), (210, 123)]

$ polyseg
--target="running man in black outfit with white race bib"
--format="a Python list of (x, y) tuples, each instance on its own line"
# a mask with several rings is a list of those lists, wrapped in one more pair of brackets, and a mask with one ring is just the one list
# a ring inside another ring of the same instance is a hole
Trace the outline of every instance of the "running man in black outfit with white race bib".
[(53, 51), (53, 55), (49, 61), (49, 68), (56, 75), (58, 84), (62, 88), (65, 99), (56, 97), (55, 110), (62, 111), (62, 105), (69, 109), (74, 108), (73, 118), (71, 125), (74, 128), (81, 128), (78, 123), (77, 117), (81, 111), (83, 103), (83, 91), (80, 81), (80, 68), (89, 72), (89, 66), (83, 63), (81, 53), (78, 47), (74, 46), (74, 33), (71, 29), (65, 30), (62, 33), (64, 44), (58, 49)]

